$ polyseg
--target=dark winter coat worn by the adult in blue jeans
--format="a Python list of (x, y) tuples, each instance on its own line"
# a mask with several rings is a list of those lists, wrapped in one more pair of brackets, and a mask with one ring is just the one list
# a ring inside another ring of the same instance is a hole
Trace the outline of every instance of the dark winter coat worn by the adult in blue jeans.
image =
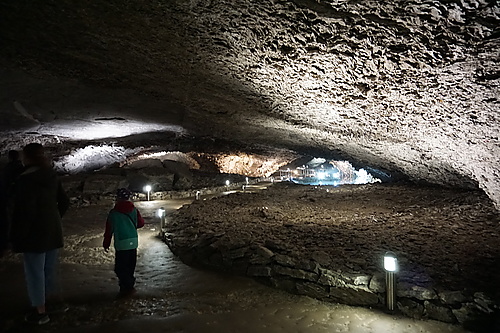
[(29, 167), (13, 187), (11, 242), (14, 252), (63, 247), (61, 217), (69, 199), (51, 168)]

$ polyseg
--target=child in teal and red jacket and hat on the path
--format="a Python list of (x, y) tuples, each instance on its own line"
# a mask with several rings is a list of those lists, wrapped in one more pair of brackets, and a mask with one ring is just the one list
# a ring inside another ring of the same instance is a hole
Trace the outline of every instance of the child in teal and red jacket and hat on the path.
[(144, 219), (130, 201), (132, 192), (126, 188), (116, 191), (116, 203), (108, 214), (102, 246), (108, 252), (114, 236), (115, 273), (119, 280), (120, 296), (135, 292), (135, 265), (137, 262), (137, 229), (144, 226)]

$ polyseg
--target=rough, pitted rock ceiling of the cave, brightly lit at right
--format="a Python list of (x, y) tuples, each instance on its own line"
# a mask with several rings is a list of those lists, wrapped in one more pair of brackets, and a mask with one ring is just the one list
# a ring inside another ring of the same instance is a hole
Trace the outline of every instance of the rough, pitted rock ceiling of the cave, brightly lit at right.
[(486, 0), (2, 1), (0, 112), (342, 153), (498, 208), (499, 23)]

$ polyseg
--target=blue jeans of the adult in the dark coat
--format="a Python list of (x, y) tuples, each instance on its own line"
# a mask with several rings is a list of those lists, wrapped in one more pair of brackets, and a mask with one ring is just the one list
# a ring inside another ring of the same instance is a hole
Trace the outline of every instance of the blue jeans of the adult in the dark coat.
[(31, 305), (45, 305), (45, 295), (58, 292), (56, 266), (59, 250), (24, 253), (24, 273)]

